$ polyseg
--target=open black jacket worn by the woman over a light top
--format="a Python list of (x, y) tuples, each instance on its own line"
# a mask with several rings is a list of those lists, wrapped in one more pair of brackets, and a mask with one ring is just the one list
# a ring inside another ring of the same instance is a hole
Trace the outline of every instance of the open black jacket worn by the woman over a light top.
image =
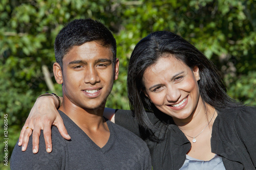
[[(226, 169), (255, 169), (256, 167), (256, 109), (237, 107), (217, 109), (212, 126), (211, 151), (222, 157)], [(160, 141), (144, 139), (150, 148), (153, 169), (179, 169), (191, 144), (173, 123), (165, 124), (154, 113), (148, 113)], [(141, 136), (132, 112), (117, 110), (115, 123)]]

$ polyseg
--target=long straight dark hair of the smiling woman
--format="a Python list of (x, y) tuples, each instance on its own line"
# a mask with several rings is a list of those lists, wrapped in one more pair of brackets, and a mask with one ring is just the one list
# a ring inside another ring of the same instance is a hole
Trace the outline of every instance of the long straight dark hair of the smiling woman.
[(144, 129), (153, 128), (145, 110), (154, 112), (156, 107), (142, 92), (144, 89), (143, 74), (146, 68), (155, 64), (166, 54), (172, 54), (190, 68), (198, 66), (201, 78), (198, 85), (204, 103), (215, 108), (241, 106), (227, 95), (216, 66), (195, 46), (174, 33), (154, 32), (140, 40), (135, 46), (127, 75), (130, 107)]

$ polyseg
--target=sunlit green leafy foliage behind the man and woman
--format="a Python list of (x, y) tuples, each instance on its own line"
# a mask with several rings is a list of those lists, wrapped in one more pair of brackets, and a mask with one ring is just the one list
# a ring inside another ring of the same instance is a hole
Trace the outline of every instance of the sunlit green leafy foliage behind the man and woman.
[(161, 30), (193, 43), (218, 66), (232, 98), (256, 105), (255, 9), (254, 0), (1, 0), (0, 168), (9, 168), (2, 161), (4, 114), (8, 114), (10, 156), (37, 96), (61, 95), (51, 73), (53, 44), (68, 21), (91, 17), (115, 35), (120, 75), (108, 107), (129, 109), (126, 70), (132, 50), (141, 38)]

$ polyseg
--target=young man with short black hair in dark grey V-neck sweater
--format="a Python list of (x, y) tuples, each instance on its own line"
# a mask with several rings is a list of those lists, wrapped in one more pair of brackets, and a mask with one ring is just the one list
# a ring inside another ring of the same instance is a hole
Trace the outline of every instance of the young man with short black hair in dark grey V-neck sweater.
[(145, 142), (103, 117), (119, 67), (111, 32), (92, 19), (73, 20), (58, 33), (54, 49), (54, 77), (63, 93), (58, 112), (71, 140), (52, 127), (51, 153), (42, 134), (37, 154), (32, 139), (25, 152), (16, 144), (11, 169), (151, 169)]

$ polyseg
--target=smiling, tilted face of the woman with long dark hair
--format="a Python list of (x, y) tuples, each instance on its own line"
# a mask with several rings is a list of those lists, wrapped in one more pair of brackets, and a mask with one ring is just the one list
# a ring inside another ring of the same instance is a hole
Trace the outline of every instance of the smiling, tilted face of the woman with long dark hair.
[(174, 120), (186, 119), (198, 106), (198, 80), (197, 66), (191, 69), (172, 55), (167, 55), (145, 70), (144, 93), (160, 111)]

